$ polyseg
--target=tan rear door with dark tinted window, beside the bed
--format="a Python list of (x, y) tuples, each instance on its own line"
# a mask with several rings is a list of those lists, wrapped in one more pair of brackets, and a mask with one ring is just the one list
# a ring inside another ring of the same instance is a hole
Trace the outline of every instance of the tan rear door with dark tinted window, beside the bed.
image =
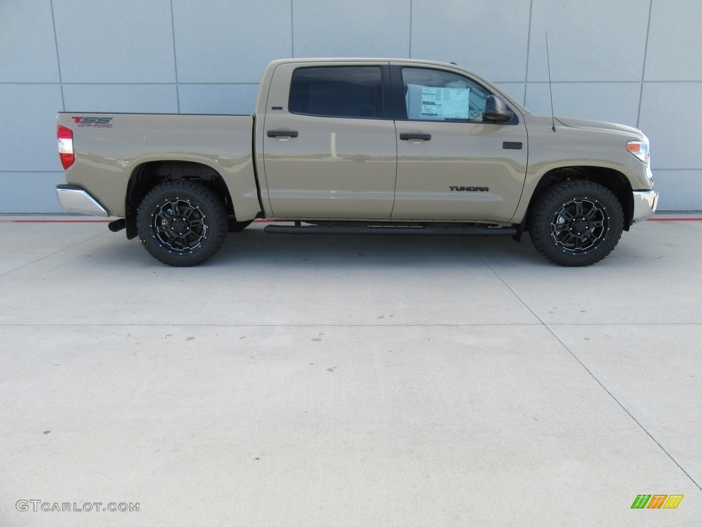
[(263, 124), (262, 190), (273, 216), (390, 219), (391, 106), (388, 63), (279, 65)]

